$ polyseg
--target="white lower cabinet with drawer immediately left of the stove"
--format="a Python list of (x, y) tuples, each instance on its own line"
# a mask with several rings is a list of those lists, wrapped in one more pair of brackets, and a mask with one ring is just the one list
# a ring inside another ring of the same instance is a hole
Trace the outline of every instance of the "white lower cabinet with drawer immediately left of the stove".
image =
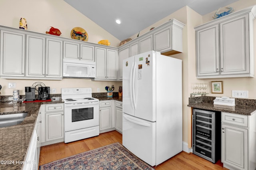
[(42, 107), (41, 146), (64, 141), (64, 104), (47, 104)]

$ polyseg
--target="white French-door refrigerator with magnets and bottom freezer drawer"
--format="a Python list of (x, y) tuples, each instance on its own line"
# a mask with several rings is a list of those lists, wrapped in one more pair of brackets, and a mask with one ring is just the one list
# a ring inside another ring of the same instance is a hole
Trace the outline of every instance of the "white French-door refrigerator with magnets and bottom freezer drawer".
[(151, 166), (182, 151), (182, 60), (148, 51), (123, 60), (123, 145)]

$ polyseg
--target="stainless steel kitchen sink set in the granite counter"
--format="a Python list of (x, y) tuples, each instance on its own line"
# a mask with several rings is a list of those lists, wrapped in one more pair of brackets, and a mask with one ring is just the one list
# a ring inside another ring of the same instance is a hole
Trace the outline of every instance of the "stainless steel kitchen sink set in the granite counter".
[(14, 125), (19, 125), (23, 122), (28, 113), (15, 113), (8, 115), (0, 115), (0, 128), (11, 127)]

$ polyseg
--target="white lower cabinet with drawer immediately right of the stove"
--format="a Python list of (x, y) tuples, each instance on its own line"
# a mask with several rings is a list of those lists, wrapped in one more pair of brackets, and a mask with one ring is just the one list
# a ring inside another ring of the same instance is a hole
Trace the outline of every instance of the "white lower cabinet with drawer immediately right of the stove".
[(100, 101), (100, 133), (115, 130), (113, 100)]

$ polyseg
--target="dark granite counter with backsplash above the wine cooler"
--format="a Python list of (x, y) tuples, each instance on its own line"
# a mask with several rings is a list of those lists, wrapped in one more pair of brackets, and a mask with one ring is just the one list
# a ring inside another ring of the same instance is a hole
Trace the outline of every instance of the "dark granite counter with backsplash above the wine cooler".
[(206, 109), (212, 111), (222, 111), (228, 113), (236, 113), (241, 115), (252, 115), (256, 113), (256, 100), (255, 99), (235, 99), (234, 109), (224, 109), (214, 107), (213, 100), (215, 97), (202, 96), (202, 97), (190, 97), (188, 99), (188, 107)]

